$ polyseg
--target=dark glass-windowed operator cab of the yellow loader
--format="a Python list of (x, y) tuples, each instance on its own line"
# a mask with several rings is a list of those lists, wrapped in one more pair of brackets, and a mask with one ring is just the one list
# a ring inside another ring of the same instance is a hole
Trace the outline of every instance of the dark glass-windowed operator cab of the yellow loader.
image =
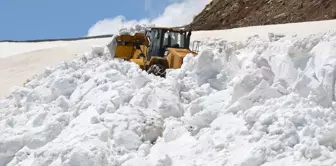
[(191, 31), (173, 28), (155, 27), (146, 31), (147, 39), (150, 41), (147, 61), (153, 56), (167, 56), (167, 48), (188, 49), (190, 44)]

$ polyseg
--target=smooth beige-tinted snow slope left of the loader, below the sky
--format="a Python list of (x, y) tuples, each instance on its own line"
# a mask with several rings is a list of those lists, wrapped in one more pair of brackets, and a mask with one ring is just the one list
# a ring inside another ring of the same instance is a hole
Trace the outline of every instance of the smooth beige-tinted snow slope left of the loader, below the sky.
[[(90, 51), (92, 46), (105, 46), (111, 38), (39, 43), (0, 42), (0, 99), (13, 86), (22, 86), (27, 79), (76, 54)], [(19, 53), (19, 54), (18, 54)]]

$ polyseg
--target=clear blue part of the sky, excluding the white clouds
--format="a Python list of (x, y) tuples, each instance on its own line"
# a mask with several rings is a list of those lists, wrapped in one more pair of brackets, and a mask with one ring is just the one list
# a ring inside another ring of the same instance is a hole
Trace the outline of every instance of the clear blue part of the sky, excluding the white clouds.
[[(97, 21), (155, 18), (171, 0), (0, 0), (0, 40), (86, 36)], [(197, 1), (197, 0), (196, 0)], [(147, 3), (149, 4), (149, 3)]]

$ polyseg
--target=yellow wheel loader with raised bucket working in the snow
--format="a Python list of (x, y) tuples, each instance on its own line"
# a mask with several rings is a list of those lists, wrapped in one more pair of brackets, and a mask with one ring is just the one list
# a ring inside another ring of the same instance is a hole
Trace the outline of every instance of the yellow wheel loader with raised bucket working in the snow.
[(149, 74), (165, 77), (166, 69), (180, 68), (187, 54), (197, 55), (189, 49), (190, 36), (191, 30), (152, 27), (145, 33), (118, 35), (115, 47), (109, 48), (114, 58), (132, 61)]

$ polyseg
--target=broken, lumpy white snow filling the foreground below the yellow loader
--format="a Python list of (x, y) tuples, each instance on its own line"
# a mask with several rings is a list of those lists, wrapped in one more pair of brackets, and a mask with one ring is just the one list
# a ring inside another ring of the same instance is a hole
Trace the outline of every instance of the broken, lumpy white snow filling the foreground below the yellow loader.
[(336, 165), (335, 46), (204, 39), (166, 79), (94, 47), (0, 100), (0, 166)]

